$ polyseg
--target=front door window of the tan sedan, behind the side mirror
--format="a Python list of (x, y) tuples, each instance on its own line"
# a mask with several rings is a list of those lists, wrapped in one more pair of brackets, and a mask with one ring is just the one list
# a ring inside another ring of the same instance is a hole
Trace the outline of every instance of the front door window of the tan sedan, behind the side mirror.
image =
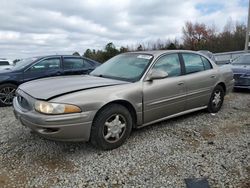
[(169, 54), (161, 57), (153, 69), (158, 69), (168, 73), (168, 77), (180, 76), (181, 65), (178, 54)]

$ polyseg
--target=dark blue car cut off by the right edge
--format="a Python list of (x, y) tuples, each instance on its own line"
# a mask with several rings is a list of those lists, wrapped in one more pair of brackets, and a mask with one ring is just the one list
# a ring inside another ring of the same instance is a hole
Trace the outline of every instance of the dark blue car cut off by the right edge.
[(232, 62), (234, 88), (250, 89), (250, 53), (239, 56)]

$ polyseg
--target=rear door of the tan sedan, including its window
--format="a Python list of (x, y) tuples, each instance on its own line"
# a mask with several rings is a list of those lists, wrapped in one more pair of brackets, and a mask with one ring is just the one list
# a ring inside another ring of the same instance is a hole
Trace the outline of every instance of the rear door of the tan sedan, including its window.
[(187, 87), (186, 110), (206, 106), (217, 82), (216, 70), (207, 58), (195, 53), (182, 53)]

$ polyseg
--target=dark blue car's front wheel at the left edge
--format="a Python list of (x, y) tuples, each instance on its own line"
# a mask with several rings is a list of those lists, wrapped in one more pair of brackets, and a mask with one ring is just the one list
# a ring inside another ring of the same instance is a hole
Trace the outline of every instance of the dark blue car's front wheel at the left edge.
[(11, 106), (17, 86), (14, 84), (0, 85), (0, 106)]

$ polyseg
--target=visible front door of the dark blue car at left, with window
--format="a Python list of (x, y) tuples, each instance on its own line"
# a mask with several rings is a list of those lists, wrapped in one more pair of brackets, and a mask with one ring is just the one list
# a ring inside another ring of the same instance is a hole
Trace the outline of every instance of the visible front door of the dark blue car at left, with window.
[(44, 58), (24, 71), (23, 80), (27, 82), (38, 78), (59, 76), (61, 73), (60, 57)]

